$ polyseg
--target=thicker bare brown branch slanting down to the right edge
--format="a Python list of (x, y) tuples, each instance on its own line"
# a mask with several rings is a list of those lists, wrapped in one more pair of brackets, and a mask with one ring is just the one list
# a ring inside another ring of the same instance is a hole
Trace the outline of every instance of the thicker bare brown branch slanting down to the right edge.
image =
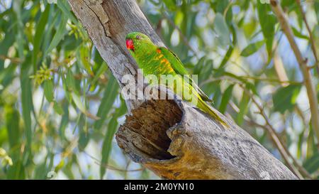
[(309, 99), (309, 106), (310, 106), (310, 112), (311, 112), (311, 123), (313, 125), (313, 129), (315, 131), (315, 134), (317, 135), (317, 139), (319, 139), (319, 112), (318, 112), (318, 99), (315, 92), (315, 87), (313, 86), (313, 82), (311, 79), (310, 72), (308, 70), (306, 60), (303, 58), (301, 51), (298, 48), (298, 45), (294, 39), (293, 31), (291, 30), (291, 26), (289, 26), (289, 21), (287, 20), (284, 11), (281, 8), (281, 5), (276, 0), (271, 0), (270, 4), (272, 5), (272, 10), (274, 11), (274, 14), (276, 14), (276, 17), (279, 20), (279, 23), (281, 25), (282, 30), (284, 31), (291, 48), (293, 50), (293, 53), (296, 56), (296, 59), (298, 61), (299, 67), (301, 68), (301, 71), (303, 72), (303, 82), (307, 89), (308, 99)]

